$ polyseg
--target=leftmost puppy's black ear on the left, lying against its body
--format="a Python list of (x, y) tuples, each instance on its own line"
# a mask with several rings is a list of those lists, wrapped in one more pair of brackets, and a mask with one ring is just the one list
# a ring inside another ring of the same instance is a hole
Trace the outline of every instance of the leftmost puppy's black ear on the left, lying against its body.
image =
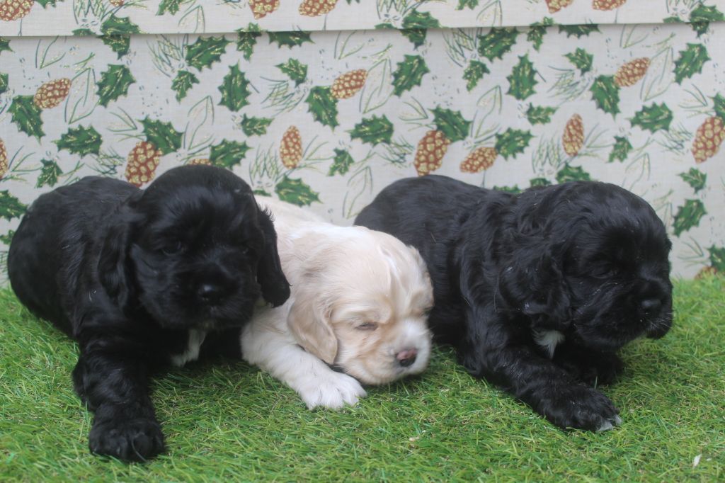
[(133, 295), (133, 280), (129, 260), (130, 238), (136, 217), (125, 206), (109, 223), (105, 236), (99, 240), (101, 253), (98, 277), (101, 286), (118, 307), (126, 307)]

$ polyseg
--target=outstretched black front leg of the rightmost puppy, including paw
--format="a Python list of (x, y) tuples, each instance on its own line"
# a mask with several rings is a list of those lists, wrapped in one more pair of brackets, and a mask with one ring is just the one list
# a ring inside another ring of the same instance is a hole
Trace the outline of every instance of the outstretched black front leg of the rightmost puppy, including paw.
[(459, 350), (464, 366), (476, 376), (505, 387), (561, 428), (603, 431), (621, 423), (608, 397), (542, 358), (515, 333), (518, 324), (479, 306), (468, 309), (466, 324)]

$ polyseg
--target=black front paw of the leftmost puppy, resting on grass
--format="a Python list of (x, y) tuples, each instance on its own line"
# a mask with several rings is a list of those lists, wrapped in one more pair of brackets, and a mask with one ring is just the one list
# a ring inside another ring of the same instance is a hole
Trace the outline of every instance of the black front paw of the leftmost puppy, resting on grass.
[(123, 461), (146, 461), (165, 450), (161, 426), (149, 418), (96, 420), (88, 446), (91, 453)]

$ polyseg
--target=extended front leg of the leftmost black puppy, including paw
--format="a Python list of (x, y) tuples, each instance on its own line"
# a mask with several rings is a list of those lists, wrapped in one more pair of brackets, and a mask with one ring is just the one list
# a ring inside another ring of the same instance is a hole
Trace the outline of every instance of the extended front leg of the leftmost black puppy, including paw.
[(142, 355), (85, 350), (73, 370), (73, 381), (95, 413), (88, 436), (92, 453), (145, 461), (165, 450)]

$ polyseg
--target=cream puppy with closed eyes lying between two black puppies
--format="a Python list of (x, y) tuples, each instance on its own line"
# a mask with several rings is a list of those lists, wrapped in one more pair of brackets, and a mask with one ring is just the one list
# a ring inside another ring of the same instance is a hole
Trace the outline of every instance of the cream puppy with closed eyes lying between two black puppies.
[(291, 296), (256, 311), (241, 336), (244, 360), (285, 382), (310, 409), (354, 405), (365, 396), (360, 383), (385, 384), (426, 368), (433, 289), (417, 250), (286, 202), (257, 203), (275, 219)]

